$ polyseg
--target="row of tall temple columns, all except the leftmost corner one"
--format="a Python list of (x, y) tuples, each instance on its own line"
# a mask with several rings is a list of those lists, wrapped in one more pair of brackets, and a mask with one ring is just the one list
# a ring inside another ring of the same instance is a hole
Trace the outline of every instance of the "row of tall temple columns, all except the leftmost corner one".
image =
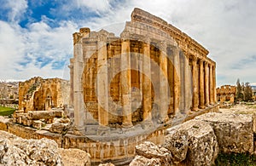
[[(168, 71), (166, 42), (160, 43), (160, 122), (168, 120)], [(180, 59), (180, 50), (177, 47), (172, 48), (173, 72), (173, 110), (174, 114), (179, 114), (182, 110), (189, 109), (189, 63)], [(107, 63), (107, 46), (106, 41), (98, 41), (98, 68), (103, 69), (101, 76), (98, 76), (97, 90), (98, 98), (102, 102), (98, 105), (99, 119), (98, 122), (108, 125), (108, 63)], [(120, 73), (120, 92), (121, 103), (123, 106), (123, 127), (131, 127), (131, 56), (130, 56), (130, 39), (123, 38), (121, 43), (121, 73)], [(183, 65), (181, 65), (181, 62)], [(198, 64), (197, 64), (198, 62)], [(152, 120), (152, 89), (151, 89), (151, 66), (150, 66), (150, 42), (143, 43), (143, 120)], [(207, 61), (192, 60), (192, 82), (193, 82), (193, 100), (192, 110), (197, 111), (199, 108), (204, 109), (209, 104), (213, 105), (216, 100), (214, 90), (215, 68)], [(172, 85), (171, 85), (172, 86)], [(182, 102), (181, 102), (182, 100)]]

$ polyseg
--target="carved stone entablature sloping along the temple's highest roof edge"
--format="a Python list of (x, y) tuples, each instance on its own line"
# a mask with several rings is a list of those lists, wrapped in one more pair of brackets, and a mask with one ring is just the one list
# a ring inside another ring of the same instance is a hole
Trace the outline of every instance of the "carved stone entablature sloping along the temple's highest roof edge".
[[(198, 52), (198, 54), (201, 54), (202, 56), (207, 56), (209, 53), (207, 49), (201, 46), (201, 44), (197, 43), (183, 31), (178, 30), (177, 27), (168, 24), (165, 20), (162, 20), (153, 14), (149, 14), (142, 9), (134, 9), (131, 14), (131, 20), (157, 26), (161, 30), (166, 31), (176, 40), (184, 52)], [(190, 47), (187, 45), (190, 45)]]

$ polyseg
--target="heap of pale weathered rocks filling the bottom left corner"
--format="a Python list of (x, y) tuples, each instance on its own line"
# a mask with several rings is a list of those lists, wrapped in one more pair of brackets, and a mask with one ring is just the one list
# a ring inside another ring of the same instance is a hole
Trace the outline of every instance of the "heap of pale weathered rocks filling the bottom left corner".
[(54, 140), (26, 140), (0, 130), (0, 165), (90, 166), (90, 154), (58, 148)]

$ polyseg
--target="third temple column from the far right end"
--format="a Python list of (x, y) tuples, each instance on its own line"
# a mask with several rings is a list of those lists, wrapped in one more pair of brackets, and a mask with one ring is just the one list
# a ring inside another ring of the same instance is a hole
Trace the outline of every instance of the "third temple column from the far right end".
[(199, 60), (199, 94), (200, 94), (200, 100), (199, 100), (199, 107), (201, 109), (205, 108), (205, 86), (204, 86), (204, 64), (203, 60)]

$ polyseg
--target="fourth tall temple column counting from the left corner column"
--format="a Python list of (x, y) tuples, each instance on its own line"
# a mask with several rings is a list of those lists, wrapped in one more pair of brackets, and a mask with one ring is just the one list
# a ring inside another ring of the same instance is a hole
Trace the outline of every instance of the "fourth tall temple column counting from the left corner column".
[(143, 120), (152, 120), (150, 41), (143, 43)]

